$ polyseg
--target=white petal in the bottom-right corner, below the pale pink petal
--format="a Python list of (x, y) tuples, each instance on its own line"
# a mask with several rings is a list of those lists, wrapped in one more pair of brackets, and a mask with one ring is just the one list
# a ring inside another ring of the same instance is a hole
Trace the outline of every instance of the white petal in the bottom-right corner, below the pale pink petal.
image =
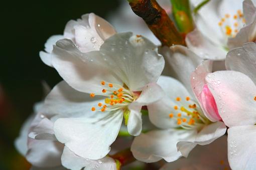
[(234, 170), (255, 169), (256, 126), (234, 126), (227, 132), (230, 167)]

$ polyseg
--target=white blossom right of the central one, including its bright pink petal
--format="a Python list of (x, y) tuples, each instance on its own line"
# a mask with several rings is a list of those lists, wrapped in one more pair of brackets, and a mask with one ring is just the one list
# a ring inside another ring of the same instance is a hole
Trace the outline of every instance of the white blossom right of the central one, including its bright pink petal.
[[(192, 77), (190, 80), (190, 73), (200, 61), (199, 57), (182, 46), (164, 48), (162, 52), (175, 66), (172, 69), (185, 86), (171, 77), (159, 78), (157, 83), (165, 91), (166, 96), (149, 104), (148, 110), (152, 123), (162, 130), (153, 130), (137, 136), (131, 147), (134, 156), (145, 162), (154, 162), (162, 158), (168, 162), (175, 161), (181, 156), (188, 156), (197, 144), (209, 144), (226, 131), (224, 123), (219, 121), (220, 117), (212, 116), (217, 114), (214, 109), (216, 103), (208, 93), (209, 90), (201, 87), (199, 97), (199, 91), (192, 88), (196, 99), (189, 87), (195, 79)], [(211, 62), (206, 61), (203, 66), (204, 69), (198, 68), (195, 71), (197, 82), (203, 77), (201, 74), (211, 72)]]

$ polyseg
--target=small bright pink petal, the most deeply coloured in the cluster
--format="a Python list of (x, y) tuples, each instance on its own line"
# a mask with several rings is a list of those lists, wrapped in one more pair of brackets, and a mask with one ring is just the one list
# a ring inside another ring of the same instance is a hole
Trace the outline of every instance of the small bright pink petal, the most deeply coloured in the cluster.
[(211, 91), (209, 90), (207, 84), (204, 85), (201, 93), (202, 105), (205, 109), (206, 117), (210, 117), (210, 120), (218, 121), (221, 117), (218, 113), (217, 105)]

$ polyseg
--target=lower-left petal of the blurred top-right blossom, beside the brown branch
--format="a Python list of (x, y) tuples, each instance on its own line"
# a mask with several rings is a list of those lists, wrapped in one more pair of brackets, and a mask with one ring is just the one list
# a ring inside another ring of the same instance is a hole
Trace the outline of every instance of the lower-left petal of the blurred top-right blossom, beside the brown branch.
[(222, 47), (216, 46), (207, 37), (201, 35), (196, 29), (186, 36), (188, 48), (202, 59), (223, 60), (226, 57), (226, 51)]

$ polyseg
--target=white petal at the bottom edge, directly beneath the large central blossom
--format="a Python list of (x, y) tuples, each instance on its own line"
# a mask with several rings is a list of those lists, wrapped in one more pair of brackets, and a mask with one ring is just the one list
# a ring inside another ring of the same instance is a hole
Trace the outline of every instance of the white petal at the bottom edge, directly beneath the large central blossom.
[(61, 156), (61, 162), (63, 166), (72, 170), (80, 170), (82, 168), (85, 170), (116, 169), (115, 161), (111, 157), (105, 156), (102, 159), (90, 160), (76, 155), (67, 146), (64, 147), (63, 154)]

